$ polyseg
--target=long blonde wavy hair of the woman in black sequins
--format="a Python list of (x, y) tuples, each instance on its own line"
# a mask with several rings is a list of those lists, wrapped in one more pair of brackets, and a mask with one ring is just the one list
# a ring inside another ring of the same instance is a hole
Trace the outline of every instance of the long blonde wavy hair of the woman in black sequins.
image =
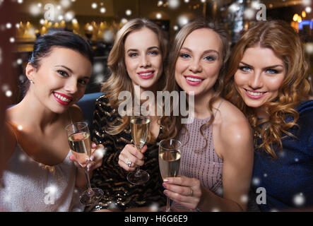
[[(131, 83), (131, 78), (129, 77), (126, 71), (125, 65), (125, 40), (126, 37), (136, 30), (141, 30), (142, 28), (148, 28), (155, 32), (155, 35), (158, 37), (159, 45), (160, 45), (160, 54), (162, 54), (163, 64), (167, 55), (167, 43), (165, 37), (163, 35), (163, 31), (159, 28), (159, 26), (152, 21), (146, 18), (136, 18), (133, 20), (129, 20), (129, 22), (125, 23), (125, 25), (117, 32), (117, 37), (114, 40), (114, 45), (107, 59), (107, 66), (111, 71), (110, 78), (107, 79), (104, 83), (102, 83), (101, 91), (105, 93), (110, 101), (110, 105), (113, 109), (117, 110), (119, 105), (124, 100), (119, 100), (119, 93), (122, 91), (129, 91), (131, 96), (133, 97), (134, 103), (134, 86)], [(165, 85), (165, 76), (163, 71), (162, 75), (158, 80), (158, 90), (163, 90)], [(106, 128), (106, 132), (115, 135), (122, 132), (129, 126), (130, 117), (125, 115), (122, 117), (122, 123), (120, 124), (108, 124)]]

